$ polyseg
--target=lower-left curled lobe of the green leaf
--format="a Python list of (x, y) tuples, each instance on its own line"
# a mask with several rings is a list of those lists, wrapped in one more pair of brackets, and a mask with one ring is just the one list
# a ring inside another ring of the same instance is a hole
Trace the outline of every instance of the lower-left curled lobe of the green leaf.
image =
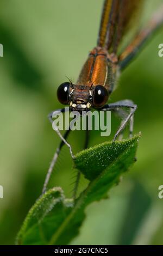
[(54, 187), (40, 197), (17, 235), (18, 245), (46, 245), (54, 230), (72, 209), (72, 200), (66, 200), (60, 187)]

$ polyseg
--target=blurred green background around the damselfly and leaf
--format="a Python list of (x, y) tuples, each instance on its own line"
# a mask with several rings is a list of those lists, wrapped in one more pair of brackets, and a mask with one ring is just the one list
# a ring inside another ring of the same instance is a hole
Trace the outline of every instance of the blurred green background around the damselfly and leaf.
[[(149, 19), (161, 0), (148, 0), (142, 22)], [(0, 43), (0, 244), (14, 244), (28, 210), (39, 197), (49, 162), (59, 138), (47, 114), (61, 105), (57, 87), (74, 82), (96, 45), (102, 0), (1, 0)], [(162, 94), (163, 58), (158, 45), (163, 29), (156, 33), (140, 56), (123, 72), (111, 102), (131, 99), (137, 105), (135, 133), (141, 131), (137, 162), (112, 188), (110, 199), (93, 203), (72, 244), (163, 244)], [(120, 120), (112, 115), (112, 133)], [(74, 151), (82, 149), (83, 132), (68, 141)], [(102, 142), (91, 133), (90, 145)], [(50, 186), (62, 186), (71, 196), (74, 175), (70, 154), (61, 152)], [(80, 189), (84, 186), (83, 180)]]

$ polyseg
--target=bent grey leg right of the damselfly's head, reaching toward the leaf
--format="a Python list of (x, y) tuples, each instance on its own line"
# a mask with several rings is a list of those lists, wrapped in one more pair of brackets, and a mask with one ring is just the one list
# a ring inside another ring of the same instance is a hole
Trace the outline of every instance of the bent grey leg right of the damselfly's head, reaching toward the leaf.
[[(112, 142), (115, 142), (117, 136), (120, 135), (120, 133), (123, 131), (124, 127), (130, 120), (130, 118), (133, 117), (133, 114), (136, 111), (137, 105), (135, 105), (130, 100), (122, 100), (122, 101), (117, 101), (115, 103), (110, 103), (108, 105), (105, 105), (101, 110), (102, 111), (112, 111), (112, 110), (116, 111), (118, 108), (129, 108), (130, 113), (128, 114), (127, 118), (124, 119), (120, 128), (117, 130)], [(131, 119), (131, 123), (130, 123), (130, 137), (131, 137), (132, 133), (133, 133), (133, 119)]]

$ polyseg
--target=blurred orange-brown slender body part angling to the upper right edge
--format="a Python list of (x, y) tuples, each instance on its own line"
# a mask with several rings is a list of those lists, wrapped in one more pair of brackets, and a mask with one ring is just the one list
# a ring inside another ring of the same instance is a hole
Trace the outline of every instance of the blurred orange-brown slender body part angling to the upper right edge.
[(126, 68), (131, 60), (138, 55), (140, 49), (145, 45), (149, 38), (151, 38), (155, 31), (161, 26), (163, 26), (163, 5), (156, 11), (147, 26), (137, 33), (134, 40), (126, 47), (120, 56), (118, 56), (120, 70)]

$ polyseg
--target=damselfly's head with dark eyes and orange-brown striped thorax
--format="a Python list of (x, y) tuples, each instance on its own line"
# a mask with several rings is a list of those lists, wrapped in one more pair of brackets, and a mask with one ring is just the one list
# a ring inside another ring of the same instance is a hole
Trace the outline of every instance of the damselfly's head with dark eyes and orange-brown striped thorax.
[(70, 105), (72, 111), (89, 111), (101, 108), (109, 99), (117, 72), (117, 58), (103, 47), (90, 52), (77, 83), (62, 83), (57, 91), (58, 100)]

